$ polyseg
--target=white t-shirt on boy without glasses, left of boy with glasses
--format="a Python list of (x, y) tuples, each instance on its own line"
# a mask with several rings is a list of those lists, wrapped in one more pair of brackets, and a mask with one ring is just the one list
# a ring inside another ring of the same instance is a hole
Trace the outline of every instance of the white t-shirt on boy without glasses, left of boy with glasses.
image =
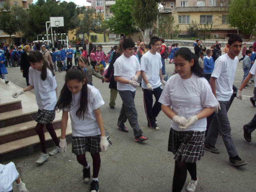
[[(138, 61), (138, 58), (134, 55), (130, 58), (121, 55), (114, 63), (114, 71), (114, 76), (120, 76), (126, 80), (132, 80), (136, 72), (140, 71), (140, 63)], [(117, 82), (117, 89), (121, 91), (136, 90), (136, 88), (134, 88), (130, 84), (123, 84), (120, 82)]]

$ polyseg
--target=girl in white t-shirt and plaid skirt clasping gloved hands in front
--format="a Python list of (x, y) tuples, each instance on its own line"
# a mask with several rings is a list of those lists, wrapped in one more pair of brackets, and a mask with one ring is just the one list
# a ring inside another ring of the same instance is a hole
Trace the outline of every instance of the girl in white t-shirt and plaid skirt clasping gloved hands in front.
[(191, 181), (187, 191), (194, 192), (198, 182), (196, 162), (204, 155), (206, 117), (214, 112), (218, 101), (189, 48), (178, 49), (174, 58), (178, 74), (168, 79), (159, 99), (163, 112), (172, 119), (168, 142), (168, 151), (176, 160), (172, 191), (182, 190), (188, 170)]

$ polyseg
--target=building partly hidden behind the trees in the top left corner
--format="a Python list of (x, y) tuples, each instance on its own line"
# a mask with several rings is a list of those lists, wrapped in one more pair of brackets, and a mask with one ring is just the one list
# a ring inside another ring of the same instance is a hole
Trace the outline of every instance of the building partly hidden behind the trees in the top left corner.
[[(0, 1), (0, 6), (2, 7), (5, 2), (10, 2), (11, 5), (19, 5), (22, 6), (24, 9), (29, 9), (30, 5), (33, 3), (33, 0), (2, 0)], [(14, 38), (20, 38), (18, 34), (11, 36), (11, 43), (14, 43)], [(5, 34), (3, 31), (0, 30), (0, 42), (9, 42), (10, 36)]]

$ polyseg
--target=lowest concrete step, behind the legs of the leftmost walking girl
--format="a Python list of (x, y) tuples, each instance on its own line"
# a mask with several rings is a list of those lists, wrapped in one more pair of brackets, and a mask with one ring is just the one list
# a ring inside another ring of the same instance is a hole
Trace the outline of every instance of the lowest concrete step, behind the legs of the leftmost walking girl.
[[(61, 136), (61, 129), (55, 130), (58, 138)], [(56, 146), (52, 140), (52, 137), (48, 132), (44, 133), (46, 140), (46, 148), (52, 148)], [(66, 140), (71, 142), (72, 129), (70, 120), (66, 129)], [(2, 144), (0, 147), (0, 162), (12, 160), (14, 158), (24, 157), (35, 152), (41, 151), (40, 140), (38, 135), (23, 138), (13, 142)]]

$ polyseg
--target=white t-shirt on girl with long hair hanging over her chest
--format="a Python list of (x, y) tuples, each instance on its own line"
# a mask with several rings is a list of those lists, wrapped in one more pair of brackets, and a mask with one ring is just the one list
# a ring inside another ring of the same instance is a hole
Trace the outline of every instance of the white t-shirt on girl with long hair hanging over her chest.
[(76, 116), (76, 111), (80, 108), (81, 91), (76, 95), (72, 93), (71, 107), (63, 109), (64, 111), (69, 111), (72, 134), (75, 137), (89, 137), (100, 134), (100, 127), (96, 120), (94, 110), (100, 108), (100, 106), (104, 105), (105, 102), (98, 89), (91, 85), (87, 86), (88, 110), (87, 114), (84, 115), (84, 119), (79, 119), (78, 116)]

